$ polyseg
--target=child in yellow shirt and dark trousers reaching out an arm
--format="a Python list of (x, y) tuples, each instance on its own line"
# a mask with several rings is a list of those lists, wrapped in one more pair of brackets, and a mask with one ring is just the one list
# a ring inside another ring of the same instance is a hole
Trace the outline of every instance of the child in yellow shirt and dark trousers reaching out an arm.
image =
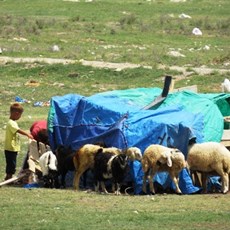
[(14, 103), (10, 106), (10, 119), (6, 126), (5, 134), (5, 158), (6, 158), (6, 177), (5, 180), (12, 178), (16, 172), (17, 154), (20, 151), (19, 134), (33, 139), (30, 133), (21, 130), (17, 124), (23, 113), (23, 107), (20, 103)]

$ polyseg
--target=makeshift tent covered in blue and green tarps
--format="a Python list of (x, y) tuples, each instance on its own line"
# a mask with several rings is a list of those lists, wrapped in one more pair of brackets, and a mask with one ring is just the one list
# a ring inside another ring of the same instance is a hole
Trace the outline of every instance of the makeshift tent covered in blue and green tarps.
[[(53, 97), (48, 117), (51, 148), (64, 145), (78, 149), (87, 143), (103, 142), (121, 149), (136, 146), (143, 152), (150, 144), (162, 144), (177, 147), (186, 157), (192, 137), (198, 142), (220, 141), (223, 115), (212, 97), (187, 91), (171, 93), (157, 107), (144, 110), (160, 93), (159, 88), (137, 88), (90, 97), (77, 94)], [(139, 194), (141, 164), (135, 161), (130, 168), (127, 178), (134, 182), (135, 193)], [(167, 186), (165, 175), (159, 174), (154, 180)], [(180, 174), (180, 186), (185, 194), (198, 190), (186, 170)]]

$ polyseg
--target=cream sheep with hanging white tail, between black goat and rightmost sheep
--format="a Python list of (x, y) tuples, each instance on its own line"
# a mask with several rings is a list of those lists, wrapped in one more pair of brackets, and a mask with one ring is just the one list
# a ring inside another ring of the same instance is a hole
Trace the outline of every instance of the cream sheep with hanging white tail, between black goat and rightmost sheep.
[[(179, 173), (186, 167), (186, 161), (183, 153), (175, 148), (168, 148), (158, 144), (148, 146), (143, 154), (142, 169), (143, 177), (143, 192), (146, 194), (146, 180), (148, 178), (150, 193), (155, 194), (153, 186), (153, 177), (157, 172), (168, 172), (172, 181), (176, 185), (176, 193), (182, 194), (179, 188)], [(150, 174), (150, 175), (149, 175)]]

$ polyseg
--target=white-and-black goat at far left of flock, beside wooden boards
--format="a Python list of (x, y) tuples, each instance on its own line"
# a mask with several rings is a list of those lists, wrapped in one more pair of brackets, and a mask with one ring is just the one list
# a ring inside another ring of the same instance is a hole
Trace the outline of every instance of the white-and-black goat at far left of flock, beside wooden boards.
[(45, 188), (59, 188), (57, 158), (52, 151), (43, 153), (39, 158)]

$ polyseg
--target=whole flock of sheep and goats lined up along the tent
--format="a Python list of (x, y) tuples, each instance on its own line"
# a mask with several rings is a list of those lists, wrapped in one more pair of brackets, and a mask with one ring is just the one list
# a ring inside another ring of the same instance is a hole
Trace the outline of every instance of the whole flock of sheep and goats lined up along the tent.
[(39, 160), (43, 178), (47, 187), (57, 187), (58, 176), (61, 176), (61, 186), (65, 187), (65, 175), (68, 171), (75, 171), (73, 188), (79, 190), (80, 178), (88, 169), (93, 169), (95, 191), (107, 193), (105, 181), (112, 180), (112, 190), (120, 194), (120, 185), (127, 172), (128, 161), (141, 162), (144, 193), (147, 193), (147, 182), (151, 194), (155, 194), (153, 177), (157, 172), (168, 172), (174, 182), (177, 194), (182, 194), (179, 188), (179, 173), (183, 168), (189, 172), (200, 172), (202, 176), (203, 192), (207, 192), (207, 176), (218, 175), (221, 178), (221, 192), (226, 194), (229, 190), (230, 152), (217, 142), (195, 143), (190, 142), (188, 155), (176, 149), (163, 145), (152, 144), (143, 153), (139, 148), (130, 147), (120, 150), (115, 147), (102, 147), (100, 145), (86, 144), (78, 151), (73, 152), (64, 147), (55, 151), (44, 153)]

